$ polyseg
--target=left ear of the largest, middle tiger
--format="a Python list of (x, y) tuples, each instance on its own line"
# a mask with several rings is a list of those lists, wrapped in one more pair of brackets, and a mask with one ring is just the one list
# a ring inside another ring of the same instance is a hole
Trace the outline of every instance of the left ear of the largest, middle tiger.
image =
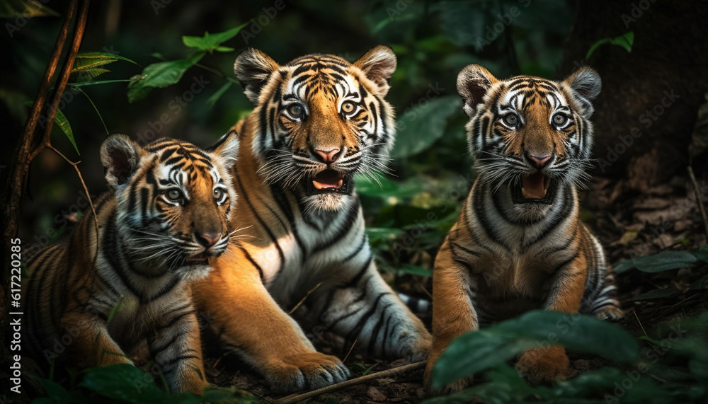
[(236, 57), (234, 73), (244, 87), (244, 94), (251, 103), (258, 103), (261, 88), (268, 82), (270, 74), (280, 66), (273, 59), (260, 50), (247, 47)]

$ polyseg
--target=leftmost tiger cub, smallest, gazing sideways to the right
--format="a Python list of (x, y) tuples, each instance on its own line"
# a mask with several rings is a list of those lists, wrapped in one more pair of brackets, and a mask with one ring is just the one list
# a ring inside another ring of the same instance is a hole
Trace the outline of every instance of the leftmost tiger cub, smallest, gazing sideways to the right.
[(172, 139), (144, 148), (124, 134), (105, 139), (111, 190), (96, 200), (96, 216), (89, 211), (67, 241), (28, 262), (23, 342), (38, 363), (132, 363), (127, 352), (147, 339), (172, 391), (202, 393), (188, 281), (205, 277), (208, 258), (229, 245), (238, 145), (234, 132), (212, 152)]

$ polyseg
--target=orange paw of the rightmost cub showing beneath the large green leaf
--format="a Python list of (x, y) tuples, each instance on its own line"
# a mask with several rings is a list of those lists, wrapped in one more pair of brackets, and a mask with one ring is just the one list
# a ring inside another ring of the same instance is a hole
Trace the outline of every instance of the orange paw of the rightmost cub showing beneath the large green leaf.
[(524, 374), (531, 384), (565, 380), (569, 359), (560, 345), (532, 348), (523, 352), (516, 362), (516, 371)]

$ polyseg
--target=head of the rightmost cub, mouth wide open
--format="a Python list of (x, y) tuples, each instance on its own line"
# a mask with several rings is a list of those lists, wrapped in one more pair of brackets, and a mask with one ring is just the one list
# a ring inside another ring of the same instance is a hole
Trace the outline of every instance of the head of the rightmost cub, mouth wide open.
[(593, 144), (591, 101), (600, 76), (583, 67), (564, 81), (498, 80), (476, 64), (457, 76), (469, 149), (482, 180), (510, 187), (515, 209), (552, 204), (558, 187), (582, 185)]

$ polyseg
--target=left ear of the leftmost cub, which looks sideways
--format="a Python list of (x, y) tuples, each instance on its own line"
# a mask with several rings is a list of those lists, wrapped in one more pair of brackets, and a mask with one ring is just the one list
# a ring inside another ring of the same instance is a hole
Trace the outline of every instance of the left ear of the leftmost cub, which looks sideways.
[(146, 153), (137, 142), (125, 134), (111, 134), (101, 144), (101, 163), (105, 180), (114, 190), (132, 178)]

